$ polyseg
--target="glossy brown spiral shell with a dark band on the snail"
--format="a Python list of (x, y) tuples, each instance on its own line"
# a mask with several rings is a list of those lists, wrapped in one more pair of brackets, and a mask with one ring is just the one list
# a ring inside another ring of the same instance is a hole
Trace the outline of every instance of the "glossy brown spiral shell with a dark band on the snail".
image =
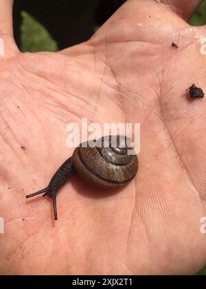
[(128, 149), (131, 147), (123, 147), (119, 136), (102, 137), (95, 147), (83, 143), (73, 152), (73, 167), (93, 186), (102, 189), (124, 186), (135, 178), (138, 170), (137, 155), (128, 155)]

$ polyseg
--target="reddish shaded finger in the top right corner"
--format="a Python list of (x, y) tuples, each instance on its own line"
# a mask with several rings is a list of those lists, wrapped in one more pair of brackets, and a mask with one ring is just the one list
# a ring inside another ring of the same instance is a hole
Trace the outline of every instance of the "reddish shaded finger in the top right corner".
[(198, 6), (201, 5), (203, 0), (161, 0), (161, 2), (169, 5), (172, 10), (175, 10), (185, 19), (185, 21), (187, 21), (192, 14), (194, 14)]

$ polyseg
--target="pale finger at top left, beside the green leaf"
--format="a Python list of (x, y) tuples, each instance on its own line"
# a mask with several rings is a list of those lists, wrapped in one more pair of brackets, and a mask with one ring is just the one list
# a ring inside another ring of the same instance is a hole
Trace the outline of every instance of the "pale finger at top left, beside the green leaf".
[(14, 0), (0, 0), (0, 59), (18, 52), (13, 38), (12, 7)]

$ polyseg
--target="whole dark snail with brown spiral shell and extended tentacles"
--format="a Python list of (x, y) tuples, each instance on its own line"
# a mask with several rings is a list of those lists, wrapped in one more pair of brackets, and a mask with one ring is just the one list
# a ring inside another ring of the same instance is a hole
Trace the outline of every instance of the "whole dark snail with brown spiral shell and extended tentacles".
[[(129, 144), (128, 144), (129, 142)], [(94, 144), (94, 145), (92, 145)], [(130, 151), (130, 153), (128, 153)], [(103, 136), (97, 141), (82, 142), (56, 171), (48, 186), (26, 198), (44, 194), (52, 197), (54, 220), (58, 220), (56, 193), (74, 173), (100, 189), (128, 184), (135, 178), (138, 159), (126, 136)]]

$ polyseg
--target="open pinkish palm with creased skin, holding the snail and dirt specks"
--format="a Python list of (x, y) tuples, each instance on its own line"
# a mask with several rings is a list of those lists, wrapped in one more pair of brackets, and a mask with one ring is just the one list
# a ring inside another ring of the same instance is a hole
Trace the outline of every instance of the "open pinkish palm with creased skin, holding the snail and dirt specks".
[[(12, 1), (0, 0), (2, 275), (187, 275), (206, 264), (206, 100), (185, 93), (206, 91), (206, 30), (185, 22), (200, 3), (126, 1), (86, 43), (22, 54)], [(138, 176), (110, 195), (73, 176), (54, 222), (50, 199), (25, 195), (71, 156), (65, 127), (82, 117), (141, 123)]]

